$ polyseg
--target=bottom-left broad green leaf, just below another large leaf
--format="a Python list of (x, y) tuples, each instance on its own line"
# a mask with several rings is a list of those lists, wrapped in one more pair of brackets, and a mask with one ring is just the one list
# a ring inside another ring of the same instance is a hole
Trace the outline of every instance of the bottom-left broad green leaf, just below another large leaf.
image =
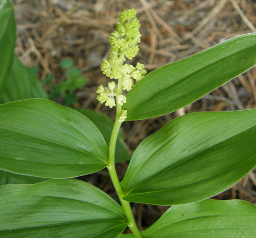
[(122, 207), (74, 179), (0, 187), (0, 237), (113, 238), (126, 228)]

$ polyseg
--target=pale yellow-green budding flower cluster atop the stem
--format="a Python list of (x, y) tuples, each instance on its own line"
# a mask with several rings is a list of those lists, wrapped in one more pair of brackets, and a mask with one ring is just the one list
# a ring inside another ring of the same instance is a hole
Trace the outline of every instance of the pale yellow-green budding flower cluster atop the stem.
[[(126, 97), (122, 95), (122, 90), (131, 90), (134, 80), (138, 82), (146, 75), (144, 65), (137, 63), (136, 66), (124, 64), (126, 58), (132, 59), (138, 53), (138, 43), (141, 34), (139, 32), (140, 23), (136, 18), (136, 10), (126, 9), (116, 22), (116, 31), (111, 33), (111, 52), (109, 59), (103, 59), (101, 70), (103, 74), (111, 79), (118, 80), (118, 83), (109, 82), (108, 87), (102, 85), (96, 91), (97, 99), (106, 106), (112, 108), (116, 104), (126, 103)], [(115, 99), (116, 98), (116, 99)], [(122, 111), (122, 120), (126, 118), (126, 113)]]

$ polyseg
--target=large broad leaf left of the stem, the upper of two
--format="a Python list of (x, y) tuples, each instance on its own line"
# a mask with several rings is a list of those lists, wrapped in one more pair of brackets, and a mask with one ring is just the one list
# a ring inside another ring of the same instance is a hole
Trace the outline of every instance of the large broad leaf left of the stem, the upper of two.
[(0, 105), (0, 169), (72, 178), (107, 166), (108, 148), (84, 115), (46, 99)]

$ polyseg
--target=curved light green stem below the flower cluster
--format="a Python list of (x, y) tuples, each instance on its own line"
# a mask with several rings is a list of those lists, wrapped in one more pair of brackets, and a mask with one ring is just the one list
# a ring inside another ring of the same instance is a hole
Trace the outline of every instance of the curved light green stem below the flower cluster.
[(119, 122), (119, 118), (121, 115), (121, 110), (122, 107), (117, 105), (116, 107), (116, 120), (114, 123), (114, 128), (112, 130), (111, 138), (110, 138), (110, 143), (109, 143), (109, 151), (108, 151), (108, 172), (110, 174), (110, 178), (114, 184), (114, 188), (116, 189), (116, 193), (119, 197), (119, 200), (122, 204), (122, 207), (124, 209), (124, 213), (126, 214), (126, 218), (129, 222), (129, 228), (133, 232), (134, 236), (137, 238), (142, 238), (142, 234), (140, 233), (140, 230), (138, 229), (134, 216), (132, 214), (132, 209), (130, 206), (130, 202), (127, 202), (122, 199), (124, 197), (124, 191), (120, 185), (120, 182), (118, 180), (118, 176), (116, 173), (116, 168), (115, 168), (115, 151), (116, 151), (116, 140), (118, 136), (118, 132), (120, 130), (120, 126), (122, 122)]

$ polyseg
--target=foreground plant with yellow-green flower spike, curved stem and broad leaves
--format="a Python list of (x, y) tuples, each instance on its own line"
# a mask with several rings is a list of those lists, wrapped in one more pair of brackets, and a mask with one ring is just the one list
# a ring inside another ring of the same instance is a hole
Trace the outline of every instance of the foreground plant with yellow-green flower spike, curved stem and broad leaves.
[[(254, 237), (254, 205), (209, 198), (256, 166), (256, 109), (197, 112), (170, 121), (136, 148), (122, 182), (115, 149), (124, 120), (173, 112), (254, 66), (256, 34), (237, 36), (144, 76), (142, 64), (123, 65), (138, 52), (135, 15), (134, 9), (122, 12), (110, 37), (110, 59), (101, 67), (117, 80), (97, 90), (100, 102), (116, 106), (109, 146), (90, 119), (52, 101), (0, 105), (0, 168), (52, 178), (0, 187), (2, 237)], [(124, 96), (123, 90), (130, 92)], [(72, 179), (105, 167), (122, 206)], [(140, 232), (130, 202), (173, 206)], [(122, 234), (127, 226), (133, 234)]]

